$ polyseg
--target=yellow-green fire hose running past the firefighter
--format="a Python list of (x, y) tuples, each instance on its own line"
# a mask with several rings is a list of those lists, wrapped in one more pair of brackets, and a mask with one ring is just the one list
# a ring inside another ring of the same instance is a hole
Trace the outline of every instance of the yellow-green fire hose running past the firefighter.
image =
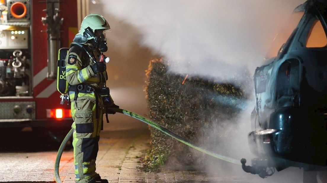
[[(204, 148), (200, 148), (198, 146), (196, 146), (195, 144), (191, 143), (190, 141), (186, 140), (185, 138), (181, 137), (180, 135), (178, 134), (175, 134), (174, 132), (166, 129), (165, 127), (139, 115), (139, 114), (136, 114), (136, 113), (133, 113), (131, 111), (128, 111), (128, 110), (125, 110), (125, 109), (120, 109), (120, 108), (112, 108), (111, 109), (112, 111), (115, 111), (115, 112), (118, 112), (118, 113), (122, 113), (122, 114), (125, 114), (127, 116), (130, 116), (132, 118), (135, 118), (137, 120), (140, 120), (148, 125), (150, 125), (151, 127), (163, 132), (164, 134), (167, 134), (168, 136), (171, 136), (172, 138), (180, 141), (181, 143), (183, 144), (186, 144), (188, 146), (190, 146), (191, 148), (195, 148), (197, 149), (198, 151), (201, 151), (207, 155), (210, 155), (212, 157), (215, 157), (215, 158), (218, 158), (220, 160), (223, 160), (223, 161), (226, 161), (226, 162), (230, 162), (230, 163), (234, 163), (234, 164), (238, 164), (238, 165), (241, 165), (240, 161), (237, 160), (237, 159), (234, 159), (234, 158), (230, 158), (230, 157), (227, 157), (227, 156), (224, 156), (224, 155), (221, 155), (221, 154), (217, 154), (215, 152), (212, 152), (210, 150), (206, 150)], [(66, 137), (63, 139), (61, 145), (60, 145), (60, 148), (58, 150), (58, 153), (57, 153), (57, 157), (56, 157), (56, 162), (55, 162), (55, 179), (58, 183), (61, 183), (61, 180), (60, 180), (60, 176), (59, 176), (59, 163), (60, 163), (60, 158), (61, 158), (61, 155), (62, 155), (62, 152), (63, 152), (63, 149), (65, 148), (68, 140), (72, 137), (73, 135), (73, 129), (71, 129), (68, 134), (66, 135)]]

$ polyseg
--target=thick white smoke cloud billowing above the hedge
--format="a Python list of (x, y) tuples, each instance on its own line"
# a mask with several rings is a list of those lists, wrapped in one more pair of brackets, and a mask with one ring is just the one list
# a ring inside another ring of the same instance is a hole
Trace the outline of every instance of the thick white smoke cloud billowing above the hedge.
[[(274, 36), (304, 0), (101, 0), (134, 25), (141, 44), (173, 61), (170, 71), (228, 78), (259, 66)], [(110, 22), (110, 20), (109, 20)], [(114, 27), (113, 27), (114, 30)], [(126, 40), (121, 40), (126, 41)]]

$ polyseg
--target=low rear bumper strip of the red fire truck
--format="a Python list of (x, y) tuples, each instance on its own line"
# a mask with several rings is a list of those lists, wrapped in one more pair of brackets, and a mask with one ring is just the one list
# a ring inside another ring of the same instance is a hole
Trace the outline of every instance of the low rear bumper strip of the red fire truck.
[(72, 118), (63, 119), (22, 119), (22, 120), (0, 120), (0, 128), (14, 128), (14, 127), (71, 127), (73, 123)]

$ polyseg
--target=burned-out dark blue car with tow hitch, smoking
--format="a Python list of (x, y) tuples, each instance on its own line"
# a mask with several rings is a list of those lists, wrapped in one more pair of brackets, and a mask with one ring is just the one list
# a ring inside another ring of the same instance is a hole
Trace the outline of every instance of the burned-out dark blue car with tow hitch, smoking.
[(254, 74), (255, 109), (248, 136), (252, 166), (244, 171), (270, 176), (274, 169), (326, 170), (327, 1), (295, 8), (275, 37), (265, 65)]

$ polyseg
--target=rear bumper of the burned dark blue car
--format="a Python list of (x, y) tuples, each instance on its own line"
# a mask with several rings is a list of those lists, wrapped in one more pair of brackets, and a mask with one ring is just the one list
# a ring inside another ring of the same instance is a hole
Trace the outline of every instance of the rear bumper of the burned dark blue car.
[(272, 112), (268, 129), (248, 135), (252, 153), (326, 166), (326, 115), (307, 111), (284, 107)]

